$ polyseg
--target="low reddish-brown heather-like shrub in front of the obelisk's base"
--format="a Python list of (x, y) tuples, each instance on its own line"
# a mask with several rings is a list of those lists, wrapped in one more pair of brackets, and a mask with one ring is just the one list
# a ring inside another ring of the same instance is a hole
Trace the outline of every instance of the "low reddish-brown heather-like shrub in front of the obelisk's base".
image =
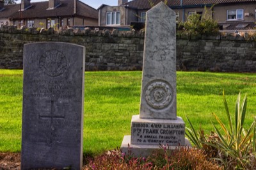
[(147, 158), (134, 158), (120, 150), (113, 150), (90, 160), (84, 169), (223, 169), (202, 150), (179, 148), (156, 151)]

